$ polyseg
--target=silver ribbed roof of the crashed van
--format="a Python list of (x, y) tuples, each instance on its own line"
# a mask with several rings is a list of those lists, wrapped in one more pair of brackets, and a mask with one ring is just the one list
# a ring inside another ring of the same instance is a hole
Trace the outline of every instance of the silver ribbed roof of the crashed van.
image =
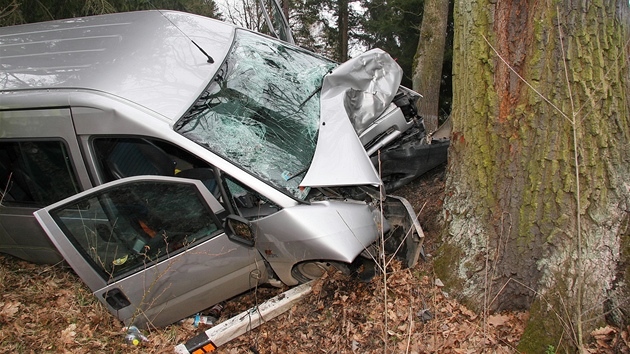
[(98, 91), (174, 121), (214, 76), (230, 49), (234, 28), (164, 10), (0, 28), (0, 94)]

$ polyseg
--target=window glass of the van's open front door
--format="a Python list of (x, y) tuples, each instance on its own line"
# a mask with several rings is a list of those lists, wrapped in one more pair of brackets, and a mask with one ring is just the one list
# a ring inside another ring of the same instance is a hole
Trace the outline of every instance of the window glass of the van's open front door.
[(51, 215), (108, 281), (219, 234), (197, 188), (184, 183), (119, 185)]

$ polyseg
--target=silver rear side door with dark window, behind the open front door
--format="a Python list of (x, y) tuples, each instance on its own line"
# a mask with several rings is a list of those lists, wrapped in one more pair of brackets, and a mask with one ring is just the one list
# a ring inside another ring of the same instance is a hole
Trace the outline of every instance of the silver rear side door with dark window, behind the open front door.
[(0, 252), (56, 263), (32, 213), (90, 182), (67, 108), (0, 111)]

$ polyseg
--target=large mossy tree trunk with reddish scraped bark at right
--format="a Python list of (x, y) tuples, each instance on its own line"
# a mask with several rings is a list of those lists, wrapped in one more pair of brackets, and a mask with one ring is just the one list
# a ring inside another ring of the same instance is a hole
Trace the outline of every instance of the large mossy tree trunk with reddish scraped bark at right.
[(606, 311), (628, 324), (629, 12), (628, 0), (455, 4), (436, 271), (478, 310), (530, 310), (526, 352), (580, 345)]

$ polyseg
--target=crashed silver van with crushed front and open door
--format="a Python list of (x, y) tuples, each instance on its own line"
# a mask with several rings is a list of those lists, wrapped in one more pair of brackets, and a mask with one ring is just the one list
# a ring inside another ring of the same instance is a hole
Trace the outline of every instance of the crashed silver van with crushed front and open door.
[(381, 234), (413, 265), (365, 147), (417, 124), (400, 75), (172, 11), (0, 28), (0, 251), (65, 260), (138, 326), (369, 269)]

